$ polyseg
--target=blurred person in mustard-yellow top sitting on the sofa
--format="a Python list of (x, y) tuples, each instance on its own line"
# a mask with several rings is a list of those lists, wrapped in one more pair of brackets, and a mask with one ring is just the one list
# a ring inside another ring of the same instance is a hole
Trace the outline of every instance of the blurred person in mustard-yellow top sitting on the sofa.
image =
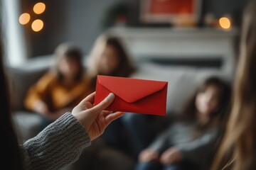
[(25, 98), (29, 111), (43, 115), (46, 125), (78, 105), (94, 90), (82, 65), (82, 52), (71, 42), (55, 48), (56, 63), (30, 89)]

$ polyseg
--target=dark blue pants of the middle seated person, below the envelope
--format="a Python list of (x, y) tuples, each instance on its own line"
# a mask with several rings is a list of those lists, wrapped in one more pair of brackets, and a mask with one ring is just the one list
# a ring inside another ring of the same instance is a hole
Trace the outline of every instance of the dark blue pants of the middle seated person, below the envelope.
[[(164, 128), (166, 123), (156, 115), (138, 113), (125, 113), (121, 118), (114, 120), (106, 128), (102, 137), (110, 147), (120, 149), (137, 159), (139, 152), (148, 147), (159, 132), (158, 128)], [(159, 122), (159, 125), (154, 125)], [(169, 123), (168, 123), (169, 124)]]

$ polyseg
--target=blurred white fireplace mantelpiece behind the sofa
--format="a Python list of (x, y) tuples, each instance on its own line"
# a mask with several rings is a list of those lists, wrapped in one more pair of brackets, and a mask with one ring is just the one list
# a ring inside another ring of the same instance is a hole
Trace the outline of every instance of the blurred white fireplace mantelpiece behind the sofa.
[(145, 57), (205, 58), (219, 56), (224, 72), (235, 69), (234, 38), (238, 30), (213, 28), (112, 28), (135, 60)]

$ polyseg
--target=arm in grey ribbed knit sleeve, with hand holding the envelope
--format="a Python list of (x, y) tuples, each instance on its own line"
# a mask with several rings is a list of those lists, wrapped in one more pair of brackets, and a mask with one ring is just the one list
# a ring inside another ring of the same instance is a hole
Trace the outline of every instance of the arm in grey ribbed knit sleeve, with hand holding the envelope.
[(90, 140), (102, 135), (107, 125), (123, 113), (103, 111), (110, 106), (114, 95), (109, 95), (93, 106), (95, 93), (51, 123), (36, 137), (23, 144), (26, 169), (61, 169), (75, 162)]

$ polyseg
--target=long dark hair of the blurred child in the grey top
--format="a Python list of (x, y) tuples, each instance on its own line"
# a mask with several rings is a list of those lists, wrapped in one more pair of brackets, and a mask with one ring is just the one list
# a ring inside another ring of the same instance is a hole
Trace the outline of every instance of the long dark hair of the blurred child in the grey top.
[(207, 130), (216, 123), (221, 125), (220, 127), (222, 128), (228, 116), (231, 93), (230, 84), (228, 83), (228, 81), (220, 79), (220, 77), (212, 76), (208, 77), (208, 79), (203, 81), (201, 86), (196, 89), (195, 93), (191, 96), (191, 98), (188, 98), (188, 101), (186, 101), (183, 108), (181, 109), (180, 118), (186, 121), (197, 120), (196, 96), (198, 95), (198, 93), (206, 91), (208, 86), (216, 86), (218, 88), (218, 91), (220, 93), (220, 95), (218, 96), (218, 108), (210, 114), (210, 120), (208, 121), (208, 123), (204, 125), (198, 125), (196, 131), (194, 132), (196, 136), (201, 135), (204, 130)]

